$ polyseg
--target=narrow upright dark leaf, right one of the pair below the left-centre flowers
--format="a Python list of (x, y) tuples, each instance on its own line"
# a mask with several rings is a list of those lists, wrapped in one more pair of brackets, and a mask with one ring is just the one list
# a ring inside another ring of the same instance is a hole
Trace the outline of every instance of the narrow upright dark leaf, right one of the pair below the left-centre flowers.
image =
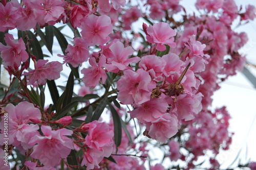
[(67, 106), (69, 103), (71, 103), (72, 96), (73, 96), (73, 89), (74, 89), (74, 75), (73, 75), (73, 71), (71, 71), (67, 85), (66, 85), (66, 89), (65, 89), (66, 93), (62, 103), (62, 108)]

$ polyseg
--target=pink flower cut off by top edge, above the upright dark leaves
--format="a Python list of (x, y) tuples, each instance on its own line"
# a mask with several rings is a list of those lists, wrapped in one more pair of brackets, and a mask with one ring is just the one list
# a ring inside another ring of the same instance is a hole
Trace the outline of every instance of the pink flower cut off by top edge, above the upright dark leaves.
[(32, 0), (30, 3), (40, 26), (44, 26), (45, 23), (54, 25), (64, 12), (65, 2), (62, 0)]

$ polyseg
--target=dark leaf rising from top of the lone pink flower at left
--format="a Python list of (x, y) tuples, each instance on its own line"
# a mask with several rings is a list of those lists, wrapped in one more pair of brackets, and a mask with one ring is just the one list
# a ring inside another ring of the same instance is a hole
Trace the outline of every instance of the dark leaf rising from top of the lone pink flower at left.
[(42, 55), (42, 48), (37, 40), (36, 36), (31, 31), (26, 31), (28, 34), (30, 41), (30, 45), (32, 47), (32, 54), (36, 56), (37, 60), (44, 59), (44, 55)]

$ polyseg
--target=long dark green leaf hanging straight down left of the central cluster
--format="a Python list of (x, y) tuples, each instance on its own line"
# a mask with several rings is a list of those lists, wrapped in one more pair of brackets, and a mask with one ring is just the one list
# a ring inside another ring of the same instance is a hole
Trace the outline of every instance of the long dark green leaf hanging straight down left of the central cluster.
[(114, 124), (114, 138), (115, 138), (115, 144), (116, 144), (116, 153), (117, 148), (121, 144), (122, 140), (122, 125), (121, 125), (121, 118), (118, 115), (116, 109), (108, 102), (108, 106), (110, 108), (110, 111), (112, 113), (113, 117), (113, 124)]

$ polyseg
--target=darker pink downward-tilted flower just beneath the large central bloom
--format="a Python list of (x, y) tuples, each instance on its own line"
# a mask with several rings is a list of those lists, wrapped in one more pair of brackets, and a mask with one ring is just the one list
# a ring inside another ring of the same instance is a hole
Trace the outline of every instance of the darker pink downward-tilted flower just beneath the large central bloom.
[(153, 122), (162, 117), (168, 108), (168, 104), (163, 99), (154, 98), (150, 101), (142, 103), (140, 107), (128, 111), (131, 117), (138, 118), (140, 122)]

